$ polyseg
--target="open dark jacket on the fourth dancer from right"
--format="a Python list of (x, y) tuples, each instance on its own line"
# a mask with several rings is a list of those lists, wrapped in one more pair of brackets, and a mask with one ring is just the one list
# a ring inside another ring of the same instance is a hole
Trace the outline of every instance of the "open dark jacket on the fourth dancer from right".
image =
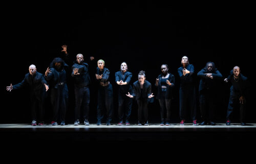
[[(172, 83), (172, 85), (168, 85), (168, 84), (166, 84), (166, 92), (165, 92), (165, 98), (167, 98), (167, 99), (171, 99), (172, 98), (172, 93), (173, 93), (173, 87), (174, 87), (174, 84), (175, 84), (175, 77), (174, 77), (174, 75), (173, 74), (170, 74), (170, 73), (168, 73), (169, 74), (169, 77), (167, 78), (167, 80), (169, 80), (169, 82), (170, 83)], [(157, 79), (159, 79), (159, 83), (158, 83), (158, 86), (157, 86), (157, 99), (160, 99), (161, 98), (161, 94), (162, 94), (162, 86), (161, 86), (161, 79), (162, 79), (162, 74), (161, 75), (159, 75), (158, 77), (157, 77)]]

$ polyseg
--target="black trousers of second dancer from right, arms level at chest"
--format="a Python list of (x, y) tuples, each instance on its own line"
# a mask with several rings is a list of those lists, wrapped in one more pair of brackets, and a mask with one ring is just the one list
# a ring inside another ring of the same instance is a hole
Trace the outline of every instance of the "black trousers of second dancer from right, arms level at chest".
[(202, 90), (200, 93), (200, 111), (202, 121), (215, 122), (215, 100), (216, 94), (214, 90)]

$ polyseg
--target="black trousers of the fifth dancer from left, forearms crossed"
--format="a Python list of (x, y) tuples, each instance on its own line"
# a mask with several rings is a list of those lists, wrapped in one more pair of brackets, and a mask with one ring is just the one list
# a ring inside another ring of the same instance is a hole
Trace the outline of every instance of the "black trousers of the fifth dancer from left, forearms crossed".
[(132, 112), (132, 102), (133, 99), (127, 97), (126, 93), (119, 91), (118, 93), (118, 118), (119, 121), (123, 120), (125, 115), (125, 120), (129, 120)]

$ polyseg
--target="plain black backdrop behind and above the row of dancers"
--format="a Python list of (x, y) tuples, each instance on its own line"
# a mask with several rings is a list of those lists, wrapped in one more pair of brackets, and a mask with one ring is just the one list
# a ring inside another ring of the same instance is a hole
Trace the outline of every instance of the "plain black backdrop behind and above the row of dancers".
[[(7, 5), (2, 13), (2, 107), (0, 123), (31, 123), (26, 88), (6, 91), (10, 83), (17, 84), (35, 64), (44, 73), (52, 59), (60, 54), (61, 45), (68, 45), (71, 62), (78, 53), (86, 58), (103, 59), (110, 69), (114, 89), (114, 117), (117, 123), (117, 93), (115, 72), (125, 61), (133, 73), (132, 83), (139, 71), (146, 72), (152, 83), (161, 73), (160, 66), (168, 64), (176, 78), (171, 123), (179, 122), (179, 77), (177, 68), (186, 55), (195, 66), (195, 75), (206, 62), (215, 62), (223, 75), (238, 65), (253, 84), (253, 46), (255, 14), (250, 4), (193, 4), (176, 6), (156, 2), (90, 2), (85, 4), (22, 4)], [(195, 7), (196, 6), (196, 7)], [(251, 41), (252, 39), (252, 41)], [(95, 62), (96, 62), (95, 61)], [(92, 63), (91, 72), (96, 68)], [(91, 77), (92, 79), (94, 77)], [(219, 82), (217, 121), (225, 122), (230, 84)], [(199, 78), (194, 77), (198, 90)], [(74, 122), (73, 82), (69, 81), (70, 104), (67, 123)], [(96, 123), (97, 87), (91, 86), (90, 123)], [(254, 123), (254, 88), (247, 98), (247, 120)], [(198, 92), (197, 92), (198, 96)], [(46, 104), (46, 123), (51, 122), (51, 106)], [(150, 123), (160, 122), (159, 103), (149, 104)], [(198, 122), (200, 109), (198, 106)], [(234, 118), (238, 119), (238, 115)], [(103, 120), (104, 121), (104, 120)], [(137, 122), (134, 102), (131, 122)]]

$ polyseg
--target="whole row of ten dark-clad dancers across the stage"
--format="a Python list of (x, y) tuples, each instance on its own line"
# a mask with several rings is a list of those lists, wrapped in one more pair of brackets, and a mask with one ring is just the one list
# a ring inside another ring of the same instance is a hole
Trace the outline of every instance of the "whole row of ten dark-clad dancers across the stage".
[[(62, 46), (62, 52), (68, 57), (67, 46)], [(94, 60), (91, 57), (90, 60)], [(95, 79), (98, 83), (97, 94), (97, 125), (102, 125), (102, 119), (106, 114), (106, 125), (111, 125), (113, 117), (113, 87), (110, 83), (110, 71), (105, 67), (104, 60), (97, 61)], [(89, 104), (90, 104), (90, 83), (89, 64), (84, 61), (82, 54), (76, 55), (76, 60), (72, 65), (72, 78), (74, 78), (75, 93), (75, 122), (74, 125), (80, 125), (80, 112), (83, 112), (84, 125), (89, 123)], [(22, 82), (16, 85), (7, 86), (7, 91), (15, 90), (25, 86), (29, 87), (32, 125), (44, 125), (44, 111), (46, 91), (50, 90), (50, 100), (53, 110), (51, 125), (65, 125), (66, 111), (69, 99), (69, 90), (67, 86), (68, 65), (65, 59), (54, 58), (47, 68), (45, 74), (36, 71), (35, 65), (29, 66), (29, 73), (25, 75)], [(133, 99), (138, 106), (138, 125), (148, 126), (148, 108), (147, 105), (154, 101), (155, 95), (152, 93), (152, 84), (146, 80), (144, 71), (138, 74), (138, 80), (133, 84), (131, 82), (133, 74), (128, 70), (126, 62), (120, 65), (120, 71), (115, 73), (115, 82), (119, 86), (118, 90), (118, 119), (117, 125), (130, 125), (130, 116), (132, 111)], [(187, 113), (189, 112), (193, 125), (197, 126), (197, 107), (196, 107), (196, 88), (193, 83), (194, 65), (188, 62), (188, 57), (183, 56), (181, 66), (178, 68), (180, 78), (179, 89), (179, 115), (180, 125), (185, 124)], [(217, 97), (217, 80), (222, 78), (214, 62), (207, 62), (206, 66), (198, 72), (200, 78), (199, 84), (199, 102), (202, 122), (200, 125), (216, 125), (215, 120), (215, 102)], [(240, 106), (240, 122), (246, 125), (245, 104), (248, 92), (248, 80), (240, 73), (240, 67), (235, 66), (230, 75), (224, 79), (225, 82), (231, 82), (230, 97), (226, 114), (226, 125), (230, 125), (231, 114), (234, 105)], [(170, 108), (172, 104), (173, 88), (175, 86), (175, 76), (168, 71), (168, 65), (161, 65), (161, 74), (156, 78), (157, 87), (156, 99), (160, 104), (160, 126), (170, 125)], [(104, 110), (106, 109), (106, 110)], [(106, 111), (106, 113), (104, 112)]]

